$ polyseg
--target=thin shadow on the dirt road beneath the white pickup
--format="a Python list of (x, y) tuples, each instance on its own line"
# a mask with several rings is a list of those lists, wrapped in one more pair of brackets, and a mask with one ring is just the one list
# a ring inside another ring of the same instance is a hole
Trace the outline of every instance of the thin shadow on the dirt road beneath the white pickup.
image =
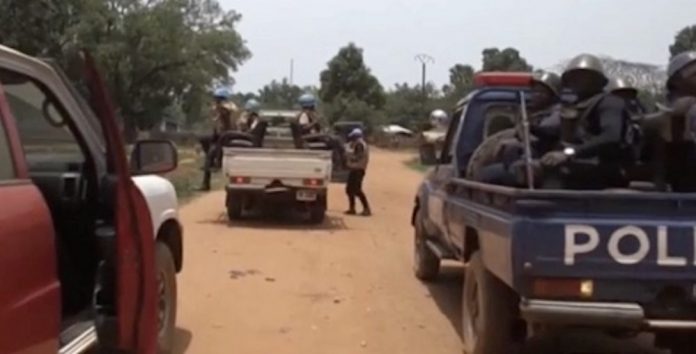
[(228, 227), (242, 227), (265, 230), (348, 230), (343, 217), (326, 215), (321, 224), (311, 224), (304, 220), (302, 215), (285, 213), (279, 215), (250, 215), (242, 220), (230, 221), (227, 214), (222, 213), (216, 219), (201, 220), (199, 224), (226, 225)]

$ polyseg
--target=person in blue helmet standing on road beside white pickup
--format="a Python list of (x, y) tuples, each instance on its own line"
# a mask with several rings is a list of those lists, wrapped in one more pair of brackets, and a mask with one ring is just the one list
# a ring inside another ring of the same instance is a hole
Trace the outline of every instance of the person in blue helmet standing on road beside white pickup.
[(370, 160), (370, 152), (367, 143), (363, 139), (363, 131), (360, 128), (353, 129), (348, 133), (348, 149), (346, 151), (346, 165), (348, 167), (348, 181), (346, 182), (346, 194), (348, 195), (347, 215), (355, 215), (355, 198), (360, 199), (362, 204), (363, 216), (372, 215), (370, 204), (362, 189), (362, 182), (365, 178), (365, 170)]

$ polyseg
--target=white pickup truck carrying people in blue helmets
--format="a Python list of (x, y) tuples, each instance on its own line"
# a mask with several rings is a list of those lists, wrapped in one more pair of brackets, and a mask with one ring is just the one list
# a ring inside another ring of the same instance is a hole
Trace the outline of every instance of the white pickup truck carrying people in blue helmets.
[(331, 182), (331, 151), (223, 148), (227, 214), (231, 220), (267, 206), (309, 212), (324, 221)]

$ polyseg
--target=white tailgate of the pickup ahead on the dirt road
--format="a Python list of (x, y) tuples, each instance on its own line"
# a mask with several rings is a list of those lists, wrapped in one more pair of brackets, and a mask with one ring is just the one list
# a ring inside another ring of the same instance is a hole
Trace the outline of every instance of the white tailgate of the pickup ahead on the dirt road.
[(261, 179), (331, 179), (331, 151), (224, 148), (227, 176)]

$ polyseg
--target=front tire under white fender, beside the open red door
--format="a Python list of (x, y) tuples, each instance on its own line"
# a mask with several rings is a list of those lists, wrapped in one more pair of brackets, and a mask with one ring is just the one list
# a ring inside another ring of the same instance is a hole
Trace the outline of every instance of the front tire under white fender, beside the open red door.
[(159, 335), (157, 352), (169, 354), (174, 350), (177, 311), (176, 266), (169, 247), (164, 243), (156, 244), (157, 262), (157, 315)]

